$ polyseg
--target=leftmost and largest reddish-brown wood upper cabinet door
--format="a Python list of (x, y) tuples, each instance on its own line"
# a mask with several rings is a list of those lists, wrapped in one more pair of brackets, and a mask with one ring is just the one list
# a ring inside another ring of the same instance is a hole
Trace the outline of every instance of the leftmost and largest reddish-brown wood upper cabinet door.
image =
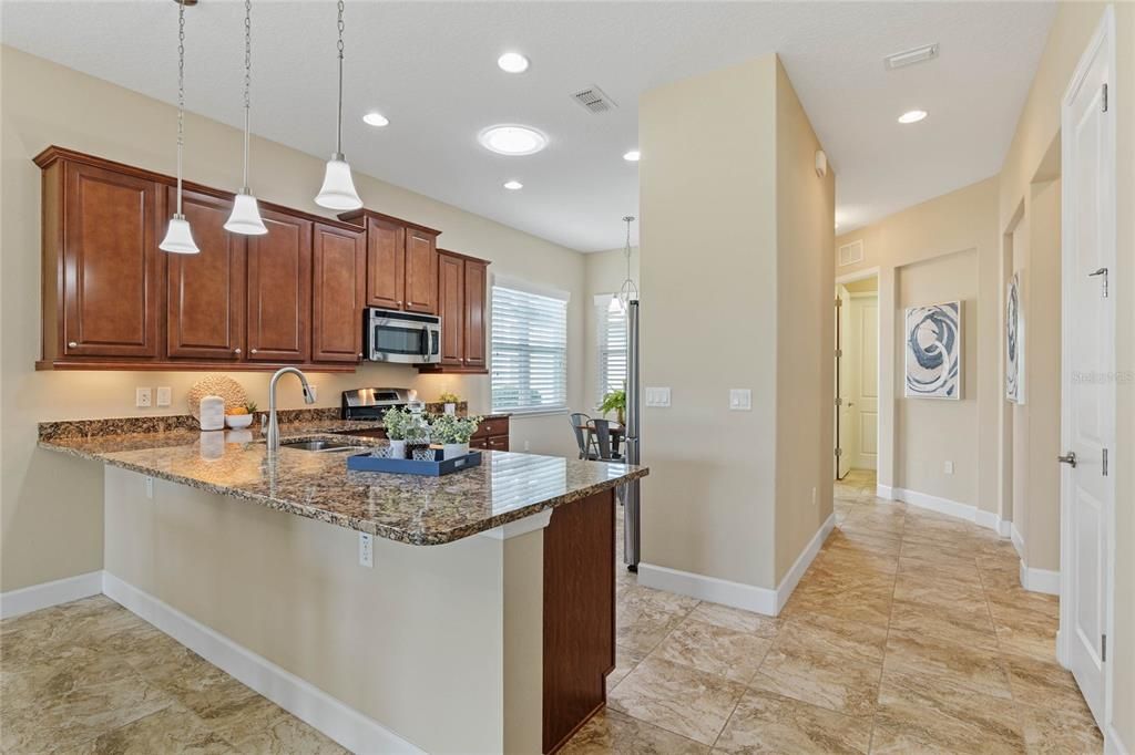
[(82, 163), (66, 181), (62, 354), (157, 357), (157, 184)]

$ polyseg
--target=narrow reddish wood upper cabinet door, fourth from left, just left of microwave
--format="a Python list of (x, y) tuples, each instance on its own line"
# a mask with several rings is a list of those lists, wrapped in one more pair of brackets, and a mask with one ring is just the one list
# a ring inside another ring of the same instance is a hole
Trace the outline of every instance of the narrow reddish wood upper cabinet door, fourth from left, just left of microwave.
[(312, 270), (312, 360), (359, 362), (367, 298), (367, 235), (316, 223)]

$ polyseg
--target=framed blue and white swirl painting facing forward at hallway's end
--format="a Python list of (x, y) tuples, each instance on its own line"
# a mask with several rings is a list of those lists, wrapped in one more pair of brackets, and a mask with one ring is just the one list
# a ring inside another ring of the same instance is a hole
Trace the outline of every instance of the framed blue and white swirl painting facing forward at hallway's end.
[(961, 302), (907, 309), (907, 398), (961, 398)]

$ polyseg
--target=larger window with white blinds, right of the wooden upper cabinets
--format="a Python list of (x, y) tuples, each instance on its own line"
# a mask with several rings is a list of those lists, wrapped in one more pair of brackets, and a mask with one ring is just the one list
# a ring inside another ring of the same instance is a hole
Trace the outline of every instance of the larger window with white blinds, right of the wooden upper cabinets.
[(497, 277), (493, 285), (493, 410), (568, 408), (568, 294)]

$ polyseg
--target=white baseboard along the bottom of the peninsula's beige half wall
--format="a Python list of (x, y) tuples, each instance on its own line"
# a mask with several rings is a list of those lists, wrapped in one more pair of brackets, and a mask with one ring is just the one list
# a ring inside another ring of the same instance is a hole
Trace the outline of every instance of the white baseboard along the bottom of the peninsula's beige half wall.
[(354, 753), (421, 753), (373, 719), (110, 572), (102, 592)]

